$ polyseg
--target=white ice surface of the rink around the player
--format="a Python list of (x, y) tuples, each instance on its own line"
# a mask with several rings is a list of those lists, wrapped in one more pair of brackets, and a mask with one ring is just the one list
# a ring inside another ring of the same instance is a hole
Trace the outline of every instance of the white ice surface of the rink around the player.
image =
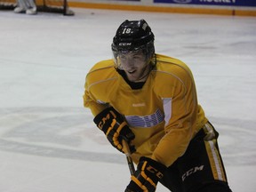
[[(74, 17), (0, 12), (0, 191), (124, 191), (125, 157), (83, 108), (84, 77), (112, 57), (119, 24), (145, 19), (156, 52), (185, 61), (220, 132), (234, 192), (256, 189), (256, 20), (75, 9)], [(158, 185), (158, 192), (167, 190)]]

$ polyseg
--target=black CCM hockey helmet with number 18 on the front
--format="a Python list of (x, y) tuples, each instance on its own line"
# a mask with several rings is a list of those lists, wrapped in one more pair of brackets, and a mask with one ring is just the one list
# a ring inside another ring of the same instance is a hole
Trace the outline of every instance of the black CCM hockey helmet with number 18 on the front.
[(115, 61), (118, 53), (138, 50), (142, 50), (147, 60), (151, 60), (155, 55), (154, 40), (155, 36), (145, 20), (124, 20), (113, 38), (112, 52)]

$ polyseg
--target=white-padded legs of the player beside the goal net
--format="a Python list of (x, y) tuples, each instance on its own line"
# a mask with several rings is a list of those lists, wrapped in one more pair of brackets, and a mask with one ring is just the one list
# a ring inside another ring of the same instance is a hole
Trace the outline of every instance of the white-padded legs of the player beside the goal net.
[(17, 0), (17, 7), (15, 7), (14, 12), (27, 14), (36, 14), (36, 4), (34, 0)]

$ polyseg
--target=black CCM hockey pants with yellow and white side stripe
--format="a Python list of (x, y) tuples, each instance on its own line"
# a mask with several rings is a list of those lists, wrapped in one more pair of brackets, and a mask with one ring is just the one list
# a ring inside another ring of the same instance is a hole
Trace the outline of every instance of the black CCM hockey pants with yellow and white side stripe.
[(207, 123), (190, 141), (186, 153), (164, 172), (160, 182), (172, 192), (231, 192), (217, 139)]

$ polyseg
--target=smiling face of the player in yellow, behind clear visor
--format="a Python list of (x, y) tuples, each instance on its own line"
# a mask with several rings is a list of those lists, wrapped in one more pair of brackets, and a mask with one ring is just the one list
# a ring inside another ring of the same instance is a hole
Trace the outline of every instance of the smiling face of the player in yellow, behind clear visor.
[(119, 53), (118, 59), (120, 67), (124, 70), (129, 81), (146, 81), (150, 67), (146, 56), (141, 51)]

